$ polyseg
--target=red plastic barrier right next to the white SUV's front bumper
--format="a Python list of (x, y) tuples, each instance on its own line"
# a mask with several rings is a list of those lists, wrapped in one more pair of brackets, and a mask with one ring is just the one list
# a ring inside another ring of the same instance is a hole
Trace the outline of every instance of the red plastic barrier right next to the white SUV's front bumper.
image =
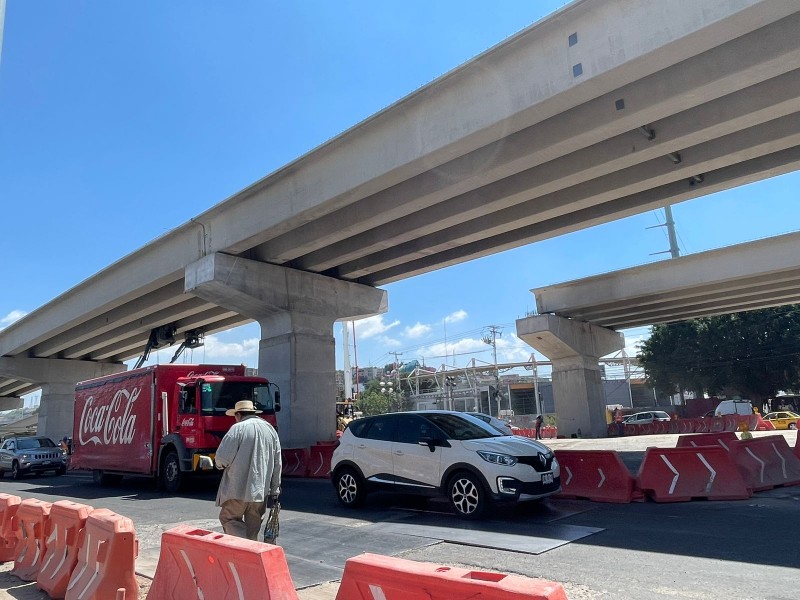
[(626, 503), (633, 498), (636, 479), (614, 450), (556, 450), (561, 465), (564, 498)]

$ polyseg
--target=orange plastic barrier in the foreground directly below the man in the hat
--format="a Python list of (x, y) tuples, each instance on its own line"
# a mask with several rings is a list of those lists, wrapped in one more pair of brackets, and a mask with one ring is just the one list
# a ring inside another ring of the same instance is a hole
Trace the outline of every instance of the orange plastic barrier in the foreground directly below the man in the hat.
[(178, 525), (161, 536), (147, 600), (296, 600), (283, 548)]

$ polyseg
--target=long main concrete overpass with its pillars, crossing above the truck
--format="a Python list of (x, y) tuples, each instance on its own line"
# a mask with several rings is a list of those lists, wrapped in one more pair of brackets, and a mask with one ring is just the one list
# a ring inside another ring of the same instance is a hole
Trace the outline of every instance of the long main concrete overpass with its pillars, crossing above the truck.
[(282, 432), (320, 439), (374, 286), (796, 170), (799, 29), (795, 0), (573, 2), (0, 332), (0, 397), (45, 385), (58, 435), (75, 363), (256, 320)]

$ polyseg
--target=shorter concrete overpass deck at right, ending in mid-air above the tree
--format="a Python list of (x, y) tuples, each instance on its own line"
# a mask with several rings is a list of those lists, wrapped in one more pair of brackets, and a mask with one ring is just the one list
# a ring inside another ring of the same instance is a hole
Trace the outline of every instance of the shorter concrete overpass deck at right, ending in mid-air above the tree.
[(791, 233), (533, 291), (540, 312), (634, 327), (786, 303), (800, 288)]

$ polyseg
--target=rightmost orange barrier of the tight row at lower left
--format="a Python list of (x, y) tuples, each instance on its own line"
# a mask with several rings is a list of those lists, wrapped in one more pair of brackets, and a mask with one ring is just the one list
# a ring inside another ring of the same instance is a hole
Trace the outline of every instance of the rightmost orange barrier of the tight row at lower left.
[(125, 590), (125, 598), (137, 598), (136, 556), (139, 540), (127, 517), (98, 508), (86, 517), (78, 534), (78, 563), (67, 584), (66, 600), (107, 600)]

